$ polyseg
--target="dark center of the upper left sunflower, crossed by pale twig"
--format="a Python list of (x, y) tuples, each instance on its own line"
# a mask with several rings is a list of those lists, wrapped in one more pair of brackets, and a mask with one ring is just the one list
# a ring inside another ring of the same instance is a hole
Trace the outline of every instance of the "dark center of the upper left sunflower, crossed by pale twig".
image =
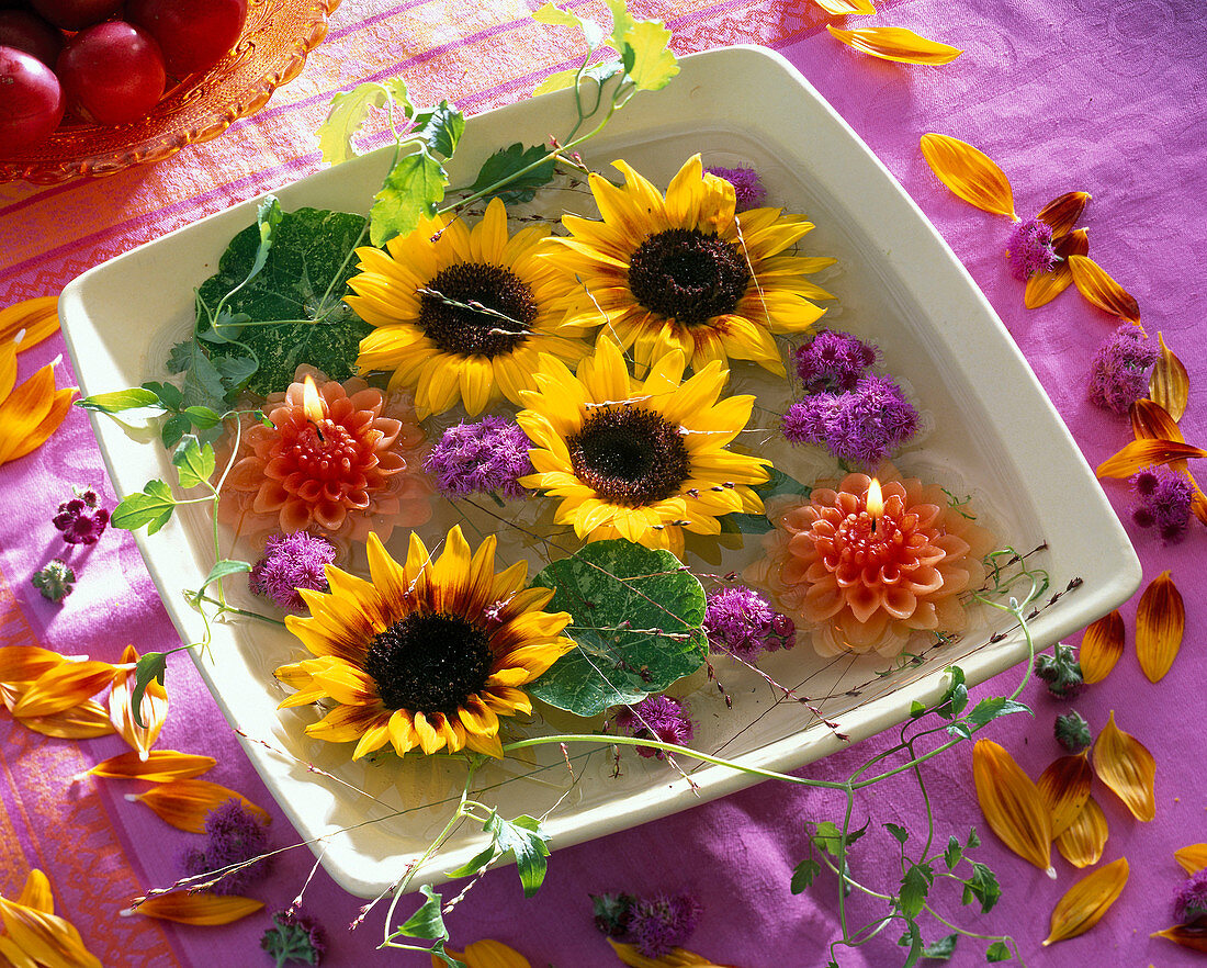
[(419, 327), (442, 352), (490, 357), (512, 352), (527, 339), (537, 315), (532, 290), (501, 266), (459, 262), (441, 269), (426, 288)]

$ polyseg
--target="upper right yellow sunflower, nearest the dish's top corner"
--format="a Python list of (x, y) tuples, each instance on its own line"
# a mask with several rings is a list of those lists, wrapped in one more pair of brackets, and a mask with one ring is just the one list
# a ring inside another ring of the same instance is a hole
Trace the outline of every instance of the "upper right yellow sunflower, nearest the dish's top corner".
[(830, 299), (804, 276), (832, 258), (786, 255), (814, 226), (780, 209), (735, 215), (734, 186), (687, 161), (666, 197), (625, 162), (625, 183), (591, 175), (601, 222), (562, 216), (546, 260), (581, 285), (560, 303), (571, 331), (607, 325), (639, 366), (682, 350), (693, 368), (753, 360), (783, 375), (772, 333), (800, 333)]

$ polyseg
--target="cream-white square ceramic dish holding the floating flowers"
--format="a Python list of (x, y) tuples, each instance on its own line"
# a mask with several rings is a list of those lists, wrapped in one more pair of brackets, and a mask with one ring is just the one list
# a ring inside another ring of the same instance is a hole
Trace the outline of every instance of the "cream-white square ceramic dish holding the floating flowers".
[[(1050, 572), (1053, 591), (1074, 577), (1083, 579), (1074, 593), (1034, 619), (1037, 647), (1074, 632), (1130, 597), (1139, 583), (1139, 564), (1090, 468), (1001, 321), (890, 173), (779, 56), (737, 47), (681, 63), (682, 74), (665, 91), (639, 95), (616, 116), (604, 138), (589, 146), (587, 161), (602, 168), (623, 156), (663, 186), (695, 152), (706, 164), (759, 169), (770, 189), (769, 204), (803, 211), (816, 222), (817, 229), (804, 240), (805, 252), (840, 261), (821, 280), (839, 297), (827, 322), (874, 339), (885, 368), (903, 379), (923, 409), (928, 430), (900, 455), (902, 470), (970, 491), (1003, 544), (1030, 552), (1046, 543), (1046, 550), (1031, 560)], [(752, 112), (752, 103), (760, 110)], [(544, 141), (550, 127), (565, 128), (570, 117), (570, 97), (561, 92), (472, 118), (454, 165), (454, 183), (472, 180), (496, 147)], [(363, 212), (384, 164), (378, 153), (276, 194), (286, 210), (313, 205)], [(581, 193), (566, 198), (567, 204), (584, 205)], [(255, 221), (255, 200), (247, 202), (174, 232), (86, 273), (64, 290), (60, 311), (83, 393), (165, 378), (167, 350), (191, 326), (193, 287), (215, 272), (229, 239)], [(786, 387), (771, 387), (746, 365), (735, 368), (733, 381), (735, 390), (759, 392), (760, 403), (772, 410), (756, 416), (766, 432), (744, 439), (758, 444), (788, 473), (811, 479), (821, 466), (816, 456), (788, 448), (782, 438), (776, 443), (774, 409), (782, 413)], [(118, 495), (141, 490), (151, 478), (174, 479), (159, 448), (135, 439), (138, 435), (132, 437), (109, 418), (93, 415), (93, 421)], [(535, 503), (520, 506), (519, 513), (532, 514)], [(421, 529), (425, 540), (438, 537), (455, 521), (447, 509), (439, 512), (430, 527)], [(470, 524), (495, 530), (486, 519)], [(404, 540), (395, 536), (395, 554), (403, 553)], [(138, 542), (181, 636), (199, 638), (200, 622), (180, 589), (198, 587), (212, 564), (205, 521), (182, 514), (153, 537), (140, 532)], [(503, 548), (523, 553), (515, 543)], [(240, 556), (238, 548), (232, 553)], [(727, 552), (722, 565), (701, 567), (723, 573), (740, 568), (754, 554), (757, 541), (747, 538), (747, 547)], [(532, 570), (538, 567), (533, 561)], [(807, 694), (844, 734), (858, 740), (902, 722), (914, 700), (935, 699), (944, 688), (943, 670), (952, 663), (958, 661), (969, 683), (978, 683), (1026, 657), (1027, 646), (1016, 630), (991, 610), (982, 611), (989, 614), (962, 641), (933, 648), (921, 664), (890, 675), (877, 675), (892, 665), (885, 660), (822, 660), (807, 645), (776, 653), (765, 667)], [(990, 643), (993, 632), (1007, 634)], [(348, 764), (350, 747), (307, 739), (302, 728), (315, 718), (314, 711), (278, 712), (284, 693), (272, 678), (275, 665), (297, 654), (297, 642), (286, 632), (240, 622), (220, 624), (211, 654), (194, 659), (227, 719), (284, 751), (244, 744), (302, 836), (322, 839), (322, 862), (346, 890), (375, 896), (443, 827), (448, 798), (459, 788), (459, 769), (443, 760)], [(844, 745), (817, 717), (782, 701), (759, 678), (727, 660), (717, 665), (734, 708), (728, 711), (711, 688), (690, 696), (700, 723), (699, 748), (789, 770)], [(548, 729), (536, 722), (529, 731)], [(573, 776), (556, 747), (544, 747), (532, 763), (483, 770), (478, 789), (484, 792), (478, 798), (497, 803), (505, 817), (541, 815), (558, 804), (547, 821), (556, 849), (752, 782), (745, 774), (700, 766), (692, 770), (693, 791), (665, 764), (631, 754), (620, 776), (613, 777), (607, 752), (588, 754), (587, 748), (571, 750)], [(338, 781), (310, 772), (307, 763)], [(442, 879), (442, 871), (462, 864), (484, 844), (474, 824), (462, 826), (424, 876)]]

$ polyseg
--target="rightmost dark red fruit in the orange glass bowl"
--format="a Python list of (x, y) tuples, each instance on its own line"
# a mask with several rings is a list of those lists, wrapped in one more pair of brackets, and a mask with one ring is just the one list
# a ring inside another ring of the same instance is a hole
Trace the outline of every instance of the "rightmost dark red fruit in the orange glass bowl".
[(205, 70), (234, 47), (247, 0), (128, 0), (126, 18), (159, 42), (174, 77)]

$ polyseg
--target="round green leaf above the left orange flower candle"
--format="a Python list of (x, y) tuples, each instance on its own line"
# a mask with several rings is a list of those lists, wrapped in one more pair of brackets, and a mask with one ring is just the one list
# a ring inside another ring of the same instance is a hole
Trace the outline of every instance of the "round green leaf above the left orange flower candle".
[[(211, 348), (217, 372), (228, 380), (245, 378), (251, 350), (260, 367), (247, 389), (260, 396), (287, 389), (298, 363), (310, 363), (334, 380), (351, 377), (360, 342), (373, 328), (343, 303), (348, 280), (356, 274), (354, 249), (366, 241), (363, 229), (362, 215), (287, 212), (274, 229), (264, 268), (227, 299), (226, 309), (240, 325), (221, 327), (238, 342)], [(231, 240), (217, 274), (200, 287), (206, 305), (216, 307), (247, 278), (260, 244), (257, 226)]]

